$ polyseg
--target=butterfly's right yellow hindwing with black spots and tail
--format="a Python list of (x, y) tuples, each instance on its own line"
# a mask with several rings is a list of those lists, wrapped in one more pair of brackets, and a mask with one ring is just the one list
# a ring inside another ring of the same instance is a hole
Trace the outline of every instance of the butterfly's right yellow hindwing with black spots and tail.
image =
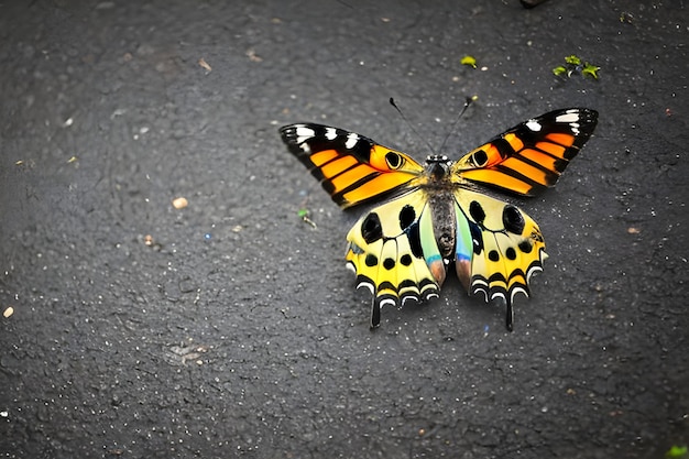
[(455, 197), (457, 275), (470, 294), (482, 293), (486, 302), (502, 298), (512, 329), (514, 297), (528, 296), (531, 277), (547, 258), (540, 229), (514, 205), (468, 189)]

